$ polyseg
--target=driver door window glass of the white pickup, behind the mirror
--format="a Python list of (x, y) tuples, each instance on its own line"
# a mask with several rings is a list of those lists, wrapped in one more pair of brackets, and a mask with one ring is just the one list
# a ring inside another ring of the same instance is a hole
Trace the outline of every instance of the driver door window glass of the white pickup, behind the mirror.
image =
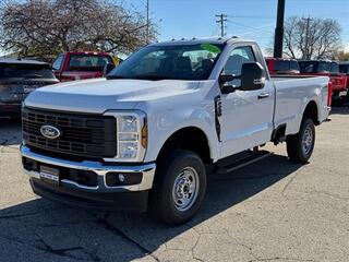
[[(231, 51), (228, 61), (225, 66), (224, 73), (240, 75), (243, 63), (255, 61), (255, 56), (251, 46), (237, 47)], [(240, 86), (241, 80), (236, 79), (228, 84), (232, 84), (233, 86)]]

